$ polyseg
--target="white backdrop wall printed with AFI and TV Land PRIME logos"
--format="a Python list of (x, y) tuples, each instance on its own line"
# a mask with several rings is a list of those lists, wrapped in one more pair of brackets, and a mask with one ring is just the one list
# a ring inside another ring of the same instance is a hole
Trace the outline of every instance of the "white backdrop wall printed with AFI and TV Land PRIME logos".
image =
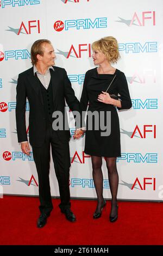
[[(0, 193), (38, 194), (33, 155), (21, 153), (15, 121), (17, 77), (31, 66), (33, 42), (52, 41), (55, 64), (66, 69), (80, 99), (85, 72), (94, 68), (90, 44), (112, 35), (121, 54), (115, 68), (126, 74), (133, 101), (131, 109), (118, 112), (118, 199), (162, 200), (162, 17), (162, 0), (0, 1)], [(26, 113), (28, 133), (28, 102)], [(73, 136), (71, 113), (70, 130)], [(84, 138), (71, 139), (71, 197), (96, 198), (91, 159), (83, 149)], [(104, 159), (103, 174), (104, 197), (110, 198)], [(50, 178), (52, 196), (59, 196), (53, 163)]]

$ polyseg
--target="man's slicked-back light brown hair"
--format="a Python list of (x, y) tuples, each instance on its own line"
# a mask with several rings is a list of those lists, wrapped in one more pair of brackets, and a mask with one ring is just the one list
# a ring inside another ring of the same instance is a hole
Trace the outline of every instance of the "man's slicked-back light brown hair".
[(35, 65), (38, 61), (37, 54), (43, 55), (43, 50), (42, 50), (43, 43), (51, 44), (51, 41), (47, 39), (39, 39), (33, 43), (30, 50), (30, 58), (32, 60), (32, 65)]

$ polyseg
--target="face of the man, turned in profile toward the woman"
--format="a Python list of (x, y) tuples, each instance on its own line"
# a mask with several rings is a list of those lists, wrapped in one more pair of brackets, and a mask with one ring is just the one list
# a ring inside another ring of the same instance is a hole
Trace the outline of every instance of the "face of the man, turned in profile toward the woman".
[(53, 66), (56, 57), (53, 46), (45, 42), (42, 44), (42, 50), (43, 55), (40, 56), (40, 62), (45, 66)]

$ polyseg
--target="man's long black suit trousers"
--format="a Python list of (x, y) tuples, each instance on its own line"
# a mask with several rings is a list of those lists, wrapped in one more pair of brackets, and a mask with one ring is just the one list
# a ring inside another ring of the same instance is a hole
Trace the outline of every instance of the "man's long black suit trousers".
[(55, 174), (57, 176), (61, 203), (61, 210), (70, 208), (70, 149), (69, 143), (59, 141), (57, 132), (52, 129), (52, 124), (46, 130), (46, 139), (42, 147), (33, 149), (33, 157), (39, 178), (40, 212), (49, 214), (52, 209), (51, 188), (49, 184), (50, 148), (54, 162)]

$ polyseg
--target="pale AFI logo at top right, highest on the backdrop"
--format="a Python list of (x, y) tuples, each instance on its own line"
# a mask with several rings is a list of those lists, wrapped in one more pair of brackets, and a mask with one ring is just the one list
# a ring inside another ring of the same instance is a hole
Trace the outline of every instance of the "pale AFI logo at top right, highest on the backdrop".
[[(138, 15), (136, 12), (131, 17), (130, 20), (123, 19), (118, 17), (120, 20), (115, 22), (120, 22), (126, 24), (128, 27), (134, 26), (145, 26), (145, 23), (149, 23), (152, 26), (155, 26), (155, 11), (142, 11), (141, 15)], [(148, 21), (147, 21), (148, 20)], [(150, 20), (150, 21), (149, 21)], [(136, 22), (136, 23), (135, 23)]]

